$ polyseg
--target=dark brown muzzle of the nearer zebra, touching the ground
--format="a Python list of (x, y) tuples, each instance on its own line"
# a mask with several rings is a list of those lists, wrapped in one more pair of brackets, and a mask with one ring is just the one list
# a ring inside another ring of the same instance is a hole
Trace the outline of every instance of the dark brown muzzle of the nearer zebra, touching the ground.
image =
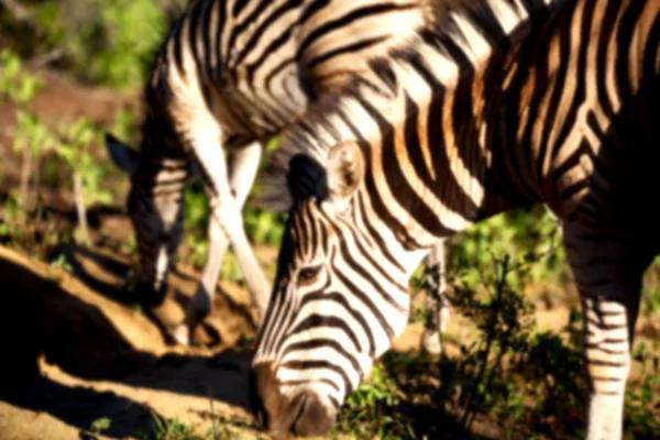
[(276, 439), (324, 437), (334, 425), (337, 410), (318, 394), (304, 391), (295, 396), (282, 394), (272, 363), (252, 367), (250, 400), (253, 414), (263, 429)]

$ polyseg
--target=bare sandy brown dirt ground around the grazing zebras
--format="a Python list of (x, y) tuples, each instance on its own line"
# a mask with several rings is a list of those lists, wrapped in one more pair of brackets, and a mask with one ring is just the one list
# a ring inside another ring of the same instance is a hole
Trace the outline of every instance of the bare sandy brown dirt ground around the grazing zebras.
[[(138, 108), (136, 96), (119, 96), (44, 76), (46, 89), (33, 109), (48, 122), (87, 116), (111, 121), (121, 108)], [(6, 194), (18, 180), (19, 157), (11, 153), (13, 109), (0, 106), (0, 164)], [(74, 209), (70, 194), (43, 191), (47, 204)], [(96, 229), (107, 234), (105, 245), (63, 246), (70, 273), (8, 248), (0, 246), (0, 307), (3, 346), (0, 349), (0, 440), (86, 438), (95, 420), (108, 418), (98, 438), (138, 438), (151, 431), (154, 417), (176, 418), (207, 430), (211, 421), (230, 420), (231, 438), (261, 438), (250, 415), (248, 369), (252, 353), (242, 349), (254, 337), (254, 310), (240, 286), (221, 283), (213, 314), (198, 332), (204, 344), (168, 345), (163, 333), (132, 305), (124, 288), (129, 258), (109, 243), (128, 237), (130, 222), (122, 207), (98, 213)], [(276, 251), (258, 250), (264, 265)], [(172, 292), (155, 311), (161, 321), (182, 317), (199, 274), (185, 266), (170, 275)], [(565, 307), (539, 308), (541, 328), (568, 321)], [(650, 326), (650, 327), (649, 327)], [(658, 327), (640, 322), (650, 339)], [(650, 330), (649, 330), (650, 329)], [(448, 332), (461, 338), (469, 331), (453, 317)], [(409, 326), (394, 349), (419, 348), (421, 327)], [(448, 345), (450, 354), (458, 348)], [(497, 438), (497, 427), (483, 426)], [(90, 437), (87, 437), (90, 438)]]

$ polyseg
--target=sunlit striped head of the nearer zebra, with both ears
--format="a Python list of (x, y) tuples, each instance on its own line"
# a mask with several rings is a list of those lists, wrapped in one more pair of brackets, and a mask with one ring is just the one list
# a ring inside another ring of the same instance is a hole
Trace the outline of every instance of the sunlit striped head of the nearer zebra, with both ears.
[(354, 141), (332, 147), (324, 167), (302, 154), (289, 162), (293, 207), (251, 372), (272, 435), (327, 435), (406, 326), (411, 270), (371, 216), (365, 166)]

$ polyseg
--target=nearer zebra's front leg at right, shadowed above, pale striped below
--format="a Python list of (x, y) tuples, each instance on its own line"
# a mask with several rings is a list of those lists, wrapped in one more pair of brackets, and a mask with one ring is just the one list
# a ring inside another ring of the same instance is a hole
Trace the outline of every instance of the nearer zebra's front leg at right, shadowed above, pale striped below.
[(641, 277), (650, 258), (628, 239), (612, 233), (571, 224), (563, 235), (584, 316), (583, 359), (590, 386), (586, 439), (622, 439)]

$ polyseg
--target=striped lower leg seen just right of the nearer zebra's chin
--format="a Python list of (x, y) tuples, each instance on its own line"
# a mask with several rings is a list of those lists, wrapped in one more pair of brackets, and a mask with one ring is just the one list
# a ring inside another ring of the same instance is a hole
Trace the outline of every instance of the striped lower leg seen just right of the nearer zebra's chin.
[(441, 333), (444, 332), (450, 316), (450, 308), (446, 297), (444, 239), (431, 249), (424, 264), (427, 312), (421, 333), (421, 348), (430, 354), (440, 354), (442, 352)]

